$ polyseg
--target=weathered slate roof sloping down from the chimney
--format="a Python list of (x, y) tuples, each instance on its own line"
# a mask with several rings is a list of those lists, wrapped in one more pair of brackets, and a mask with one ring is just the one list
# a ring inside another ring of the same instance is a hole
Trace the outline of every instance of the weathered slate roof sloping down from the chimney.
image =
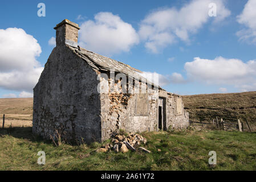
[[(97, 69), (97, 71), (115, 71), (119, 73), (124, 73), (125, 75), (132, 77), (133, 79), (140, 80), (141, 78), (145, 78), (140, 75), (141, 72), (139, 69), (132, 68), (128, 64), (121, 63), (120, 61), (113, 60), (109, 57), (101, 56), (97, 53), (87, 51), (84, 48), (76, 48), (67, 45), (70, 49), (72, 49), (76, 55), (84, 59), (92, 68)], [(147, 80), (147, 78), (145, 78)], [(159, 85), (153, 84), (152, 82), (147, 80), (148, 84), (156, 86), (161, 89)]]

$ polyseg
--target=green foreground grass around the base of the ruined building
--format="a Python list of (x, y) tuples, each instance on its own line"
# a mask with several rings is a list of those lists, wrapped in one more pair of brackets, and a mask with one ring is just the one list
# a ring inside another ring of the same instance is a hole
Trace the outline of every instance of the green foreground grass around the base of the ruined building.
[[(0, 170), (256, 170), (256, 133), (187, 130), (142, 135), (151, 154), (92, 152), (100, 143), (56, 147), (32, 135), (31, 127), (0, 129)], [(38, 151), (46, 152), (44, 166), (36, 163)], [(215, 168), (208, 165), (209, 151), (217, 152)]]

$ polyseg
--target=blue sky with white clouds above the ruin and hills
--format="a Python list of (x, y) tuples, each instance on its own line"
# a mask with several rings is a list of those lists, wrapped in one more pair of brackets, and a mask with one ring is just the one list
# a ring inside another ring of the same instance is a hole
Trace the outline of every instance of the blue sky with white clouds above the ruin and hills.
[[(0, 98), (32, 96), (54, 48), (53, 28), (63, 19), (79, 24), (84, 48), (156, 72), (169, 92), (256, 90), (255, 1), (1, 1)], [(38, 3), (46, 6), (45, 17), (38, 16)], [(216, 16), (208, 15), (209, 3), (217, 5)]]

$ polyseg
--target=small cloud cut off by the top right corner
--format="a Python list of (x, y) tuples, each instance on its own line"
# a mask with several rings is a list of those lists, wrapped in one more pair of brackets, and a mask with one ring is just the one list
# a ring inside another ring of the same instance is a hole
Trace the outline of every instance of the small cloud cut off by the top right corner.
[(249, 0), (242, 13), (237, 16), (237, 21), (247, 28), (237, 32), (239, 40), (244, 40), (249, 43), (256, 43), (256, 1)]

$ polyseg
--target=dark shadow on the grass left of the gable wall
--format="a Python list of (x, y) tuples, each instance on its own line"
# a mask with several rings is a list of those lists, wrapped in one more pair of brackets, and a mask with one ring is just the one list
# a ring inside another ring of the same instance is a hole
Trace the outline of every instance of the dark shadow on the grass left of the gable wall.
[(44, 143), (51, 143), (51, 140), (45, 140), (38, 135), (34, 135), (32, 133), (32, 127), (8, 127), (4, 129), (0, 129), (0, 137), (2, 135), (9, 135), (14, 138), (19, 139), (27, 139), (31, 142), (44, 142)]

